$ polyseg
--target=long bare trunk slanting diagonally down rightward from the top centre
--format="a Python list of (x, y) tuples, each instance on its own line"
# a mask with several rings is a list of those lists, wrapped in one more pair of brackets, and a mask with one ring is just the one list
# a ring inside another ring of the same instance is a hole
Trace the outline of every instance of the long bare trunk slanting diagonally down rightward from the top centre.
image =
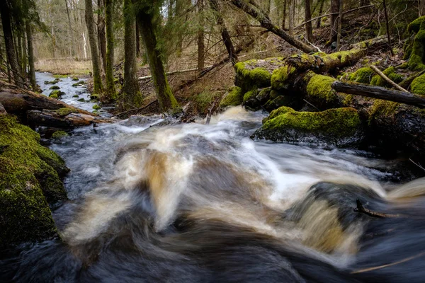
[(256, 9), (254, 6), (249, 6), (249, 4), (246, 4), (243, 0), (232, 0), (232, 4), (234, 6), (237, 6), (245, 13), (248, 13), (253, 18), (256, 18), (257, 21), (260, 22), (261, 26), (263, 28), (266, 28), (270, 30), (275, 35), (278, 35), (283, 40), (288, 42), (290, 45), (293, 45), (293, 47), (296, 47), (299, 50), (302, 50), (306, 53), (313, 53), (317, 52), (317, 48), (306, 45), (305, 43), (301, 42), (300, 40), (297, 40), (295, 37), (289, 35), (285, 32), (285, 30), (282, 30), (278, 28), (276, 25), (273, 25), (273, 23), (270, 21), (270, 19), (263, 15), (258, 9)]

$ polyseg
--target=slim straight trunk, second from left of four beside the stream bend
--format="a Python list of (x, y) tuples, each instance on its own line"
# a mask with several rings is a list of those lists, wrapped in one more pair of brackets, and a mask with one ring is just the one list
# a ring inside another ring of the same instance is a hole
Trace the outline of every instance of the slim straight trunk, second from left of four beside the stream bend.
[(115, 100), (115, 81), (113, 79), (113, 0), (105, 0), (106, 25), (106, 92), (108, 99)]

